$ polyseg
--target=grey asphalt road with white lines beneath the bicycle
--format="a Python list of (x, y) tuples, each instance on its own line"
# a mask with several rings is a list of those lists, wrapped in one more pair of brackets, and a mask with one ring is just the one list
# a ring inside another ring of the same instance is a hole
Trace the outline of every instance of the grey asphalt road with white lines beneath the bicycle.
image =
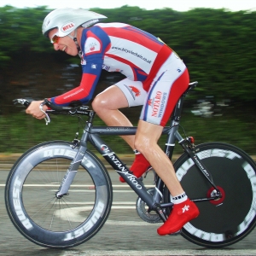
[(113, 208), (102, 230), (78, 247), (54, 250), (33, 244), (15, 229), (4, 205), (8, 172), (0, 171), (0, 255), (256, 255), (256, 230), (244, 240), (220, 249), (199, 247), (183, 236), (158, 236), (156, 229), (160, 224), (143, 222), (135, 208), (137, 195), (119, 183), (115, 172), (110, 175)]

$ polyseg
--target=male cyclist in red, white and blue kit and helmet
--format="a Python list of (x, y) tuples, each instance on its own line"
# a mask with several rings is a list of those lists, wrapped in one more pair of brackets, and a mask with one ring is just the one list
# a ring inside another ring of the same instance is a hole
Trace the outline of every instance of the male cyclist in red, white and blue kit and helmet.
[[(123, 23), (99, 23), (106, 18), (84, 9), (55, 9), (45, 17), (44, 36), (55, 50), (79, 55), (83, 69), (77, 88), (49, 101), (59, 106), (87, 103), (102, 69), (125, 75), (125, 79), (98, 94), (92, 108), (107, 125), (131, 126), (119, 108), (143, 106), (136, 136), (123, 138), (136, 153), (131, 172), (141, 177), (151, 165), (169, 189), (174, 207), (157, 231), (160, 236), (172, 234), (199, 215), (177, 180), (172, 162), (157, 144), (178, 98), (188, 88), (189, 73), (160, 38)], [(44, 113), (39, 110), (42, 102), (32, 102), (26, 113), (43, 119)], [(44, 110), (47, 108), (44, 105)], [(122, 178), (120, 181), (124, 182)]]

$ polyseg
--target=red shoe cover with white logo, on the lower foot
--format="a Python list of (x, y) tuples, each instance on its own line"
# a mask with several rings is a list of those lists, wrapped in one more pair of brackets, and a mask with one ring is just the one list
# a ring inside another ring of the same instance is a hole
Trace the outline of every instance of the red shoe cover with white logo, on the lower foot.
[(193, 201), (187, 199), (179, 204), (174, 204), (172, 212), (166, 222), (160, 226), (157, 233), (166, 236), (176, 233), (184, 224), (199, 215), (199, 210)]

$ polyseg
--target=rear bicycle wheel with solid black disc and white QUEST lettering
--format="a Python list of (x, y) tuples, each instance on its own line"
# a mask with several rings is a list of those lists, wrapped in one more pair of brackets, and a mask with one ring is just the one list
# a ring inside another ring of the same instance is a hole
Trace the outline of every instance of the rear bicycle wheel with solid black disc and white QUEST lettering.
[[(195, 202), (200, 215), (183, 226), (182, 236), (203, 247), (229, 246), (247, 236), (256, 224), (255, 163), (240, 148), (226, 143), (203, 143), (195, 152), (223, 197)], [(211, 184), (187, 154), (175, 162), (174, 168), (190, 200), (210, 196)], [(164, 196), (165, 201), (172, 200), (166, 188)]]

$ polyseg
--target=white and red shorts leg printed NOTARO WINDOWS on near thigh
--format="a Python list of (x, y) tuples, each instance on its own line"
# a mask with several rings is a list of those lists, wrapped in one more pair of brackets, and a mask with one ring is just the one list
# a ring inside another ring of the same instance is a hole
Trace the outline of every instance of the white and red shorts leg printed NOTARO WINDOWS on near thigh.
[(172, 53), (150, 85), (140, 119), (165, 126), (179, 97), (188, 86), (187, 67)]

